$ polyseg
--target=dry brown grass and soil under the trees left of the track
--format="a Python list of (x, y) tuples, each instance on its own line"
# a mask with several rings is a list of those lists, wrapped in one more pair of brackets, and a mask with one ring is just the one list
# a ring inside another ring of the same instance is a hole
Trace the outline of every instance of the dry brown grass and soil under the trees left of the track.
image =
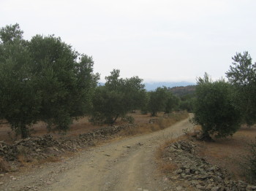
[[(132, 136), (135, 134), (142, 134), (142, 133), (150, 133), (156, 130), (160, 130), (162, 128), (166, 128), (167, 126), (173, 125), (177, 120), (181, 120), (186, 118), (188, 114), (181, 114), (181, 113), (174, 113), (170, 119), (159, 120), (159, 124), (148, 124), (148, 120), (152, 119), (150, 114), (140, 114), (140, 111), (135, 111), (135, 113), (129, 114), (130, 116), (134, 117), (135, 123), (140, 125), (140, 129), (137, 130), (128, 130), (127, 135)], [(164, 114), (159, 114), (159, 119)], [(156, 118), (156, 117), (155, 117)], [(117, 120), (115, 125), (123, 125), (127, 122), (121, 121), (121, 119)], [(50, 134), (54, 138), (60, 138), (63, 136), (78, 136), (81, 133), (88, 133), (91, 130), (96, 130), (98, 128), (105, 127), (107, 125), (92, 125), (89, 122), (89, 117), (81, 117), (78, 120), (74, 120), (72, 125), (70, 126), (69, 131), (67, 134), (63, 135), (60, 134), (58, 131), (50, 132)], [(45, 122), (37, 122), (37, 124), (31, 127), (32, 135), (33, 136), (42, 136), (48, 133), (47, 125)], [(15, 133), (11, 130), (10, 125), (7, 121), (1, 120), (0, 121), (0, 141), (6, 141), (8, 143), (12, 143), (13, 141), (20, 139), (20, 137), (15, 137)]]

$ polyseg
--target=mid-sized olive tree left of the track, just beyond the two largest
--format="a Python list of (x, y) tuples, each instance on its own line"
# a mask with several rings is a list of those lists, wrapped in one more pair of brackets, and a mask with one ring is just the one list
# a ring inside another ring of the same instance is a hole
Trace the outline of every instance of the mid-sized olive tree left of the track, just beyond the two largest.
[(91, 122), (113, 125), (118, 117), (124, 117), (128, 112), (140, 108), (146, 91), (142, 79), (122, 79), (120, 71), (116, 69), (105, 79), (105, 85), (97, 87), (94, 94)]

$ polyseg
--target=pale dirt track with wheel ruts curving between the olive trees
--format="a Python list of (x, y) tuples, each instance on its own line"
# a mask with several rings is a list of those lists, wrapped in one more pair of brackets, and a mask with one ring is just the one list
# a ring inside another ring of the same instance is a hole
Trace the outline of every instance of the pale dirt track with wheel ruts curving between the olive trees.
[(186, 128), (192, 129), (189, 119), (155, 133), (93, 147), (61, 163), (15, 176), (0, 190), (171, 190), (170, 182), (159, 176), (154, 152)]

